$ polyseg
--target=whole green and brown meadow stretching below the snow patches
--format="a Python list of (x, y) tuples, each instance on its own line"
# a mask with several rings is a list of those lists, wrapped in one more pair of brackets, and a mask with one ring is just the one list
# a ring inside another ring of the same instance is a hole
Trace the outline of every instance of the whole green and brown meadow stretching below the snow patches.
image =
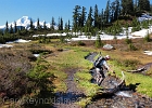
[[(80, 45), (79, 42), (62, 43), (60, 40), (53, 39), (50, 43), (39, 43), (38, 41), (33, 41), (29, 43), (13, 43), (13, 48), (3, 50), (5, 54), (11, 52), (31, 58), (33, 60), (28, 60), (30, 62), (31, 67), (35, 67), (37, 64), (31, 54), (34, 52), (45, 52), (41, 58), (47, 62), (48, 69), (46, 70), (45, 68), (45, 70), (53, 75), (53, 79), (51, 76), (51, 81), (54, 86), (53, 91), (51, 90), (53, 94), (60, 92), (66, 93), (68, 89), (67, 84), (65, 83), (68, 77), (67, 71), (68, 69), (76, 69), (77, 71), (74, 75), (74, 81), (77, 89), (81, 90), (86, 95), (86, 97), (83, 97), (79, 99), (79, 102), (77, 102), (77, 104), (83, 107), (85, 107), (88, 103), (91, 103), (91, 99), (97, 95), (100, 89), (97, 84), (91, 83), (92, 76), (90, 75), (89, 70), (92, 68), (92, 63), (85, 59), (85, 56), (91, 52), (102, 52), (103, 56), (109, 54), (111, 56), (109, 64), (111, 68), (115, 70), (116, 76), (121, 78), (121, 71), (124, 71), (126, 85), (131, 86), (132, 84), (139, 84), (137, 85), (136, 91), (152, 97), (152, 68), (147, 72), (147, 75), (127, 72), (127, 70), (137, 69), (140, 66), (152, 63), (151, 56), (143, 54), (144, 49), (151, 50), (151, 48), (147, 48), (149, 46), (147, 44), (151, 44), (151, 42), (147, 43), (145, 46), (142, 44), (143, 48), (141, 49), (140, 46), (140, 49), (137, 51), (127, 50), (128, 48), (124, 40), (117, 41), (117, 43), (114, 41), (104, 41), (104, 43), (114, 44), (115, 50), (111, 51), (105, 51), (102, 48), (94, 48), (94, 42), (92, 41), (83, 42), (85, 45)], [(121, 48), (118, 48), (118, 43), (124, 44), (119, 45)], [(4, 52), (2, 51), (1, 53)], [(41, 66), (45, 64), (46, 63), (42, 63)]]

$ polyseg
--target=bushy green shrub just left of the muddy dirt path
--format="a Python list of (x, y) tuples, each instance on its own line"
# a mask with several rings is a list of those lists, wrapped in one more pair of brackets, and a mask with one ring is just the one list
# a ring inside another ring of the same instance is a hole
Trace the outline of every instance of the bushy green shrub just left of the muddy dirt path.
[[(31, 82), (33, 86), (28, 87), (29, 96), (33, 94), (31, 98), (50, 98), (53, 96), (53, 84), (52, 80), (54, 76), (49, 71), (49, 63), (41, 58), (37, 59), (34, 68), (27, 73), (27, 78)], [(30, 100), (30, 98), (29, 98)], [(26, 107), (28, 108), (48, 108), (51, 103), (28, 103), (25, 102)]]

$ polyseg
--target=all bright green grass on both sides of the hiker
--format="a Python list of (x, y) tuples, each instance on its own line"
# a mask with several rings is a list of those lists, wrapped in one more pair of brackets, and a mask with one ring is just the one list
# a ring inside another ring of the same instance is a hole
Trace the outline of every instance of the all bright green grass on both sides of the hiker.
[[(61, 82), (59, 80), (56, 87), (60, 91), (62, 87), (64, 87), (63, 90), (66, 90), (66, 85), (64, 84), (66, 75), (64, 75), (64, 71), (63, 71), (65, 68), (79, 68), (79, 70), (75, 75), (75, 81), (77, 82), (77, 86), (85, 91), (85, 94), (87, 97), (81, 98), (81, 100), (78, 102), (77, 104), (79, 104), (81, 107), (85, 107), (85, 105), (90, 103), (91, 98), (94, 95), (97, 95), (97, 92), (99, 89), (98, 85), (92, 84), (90, 82), (91, 75), (89, 73), (89, 69), (92, 67), (92, 64), (84, 58), (88, 53), (94, 52), (94, 50), (91, 48), (66, 46), (66, 45), (60, 46), (60, 48), (62, 49), (66, 48), (66, 49), (69, 49), (69, 51), (61, 52), (59, 55), (56, 55), (58, 57), (53, 57), (52, 59), (49, 59), (50, 64), (52, 64), (53, 66), (55, 65), (56, 75), (61, 73), (60, 76), (58, 76)], [(97, 50), (97, 52), (100, 52), (100, 51), (101, 50)], [(104, 52), (104, 51), (101, 51), (101, 52), (103, 56), (106, 54), (111, 55), (112, 58), (113, 56), (115, 56), (115, 55), (112, 55), (111, 52)], [(118, 59), (119, 55), (116, 55), (116, 56), (117, 57), (115, 57), (114, 59), (111, 59), (109, 64), (112, 67), (112, 69), (115, 70), (116, 76), (122, 78), (122, 71), (125, 71), (129, 69), (130, 67), (117, 65), (116, 58)], [(137, 83), (140, 83), (136, 87), (137, 92), (152, 97), (152, 78), (148, 76), (143, 76), (143, 75), (130, 73), (130, 72), (125, 71), (125, 81), (127, 85), (129, 84), (135, 85)]]

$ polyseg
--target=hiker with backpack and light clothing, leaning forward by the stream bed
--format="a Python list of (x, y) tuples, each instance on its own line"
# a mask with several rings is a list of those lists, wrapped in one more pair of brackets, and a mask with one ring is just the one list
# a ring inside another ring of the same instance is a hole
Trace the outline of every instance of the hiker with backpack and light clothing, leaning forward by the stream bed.
[[(102, 81), (105, 78), (106, 71), (112, 71), (112, 69), (109, 67), (106, 60), (110, 59), (110, 56), (106, 55), (104, 57), (100, 56), (98, 59), (94, 62), (94, 67), (96, 67), (96, 72), (97, 72), (97, 84), (100, 85)], [(114, 72), (114, 71), (113, 71)]]

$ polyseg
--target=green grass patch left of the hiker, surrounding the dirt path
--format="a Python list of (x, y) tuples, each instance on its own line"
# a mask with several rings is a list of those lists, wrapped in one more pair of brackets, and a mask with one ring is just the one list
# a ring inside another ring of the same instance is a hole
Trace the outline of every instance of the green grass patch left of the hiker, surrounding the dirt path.
[(67, 75), (64, 72), (67, 68), (76, 68), (78, 71), (75, 75), (75, 81), (77, 83), (77, 86), (80, 87), (86, 98), (81, 98), (79, 104), (81, 107), (86, 106), (86, 104), (91, 102), (91, 98), (96, 95), (97, 90), (99, 89), (98, 85), (91, 83), (91, 75), (89, 72), (89, 69), (92, 67), (92, 63), (85, 59), (85, 56), (88, 55), (90, 52), (92, 52), (90, 49), (86, 48), (66, 48), (71, 49), (67, 51), (63, 51), (56, 55), (56, 57), (49, 57), (47, 58), (50, 62), (50, 65), (53, 67), (52, 71), (56, 77), (55, 80), (55, 92), (65, 92), (66, 91), (66, 84), (65, 80), (67, 78)]

